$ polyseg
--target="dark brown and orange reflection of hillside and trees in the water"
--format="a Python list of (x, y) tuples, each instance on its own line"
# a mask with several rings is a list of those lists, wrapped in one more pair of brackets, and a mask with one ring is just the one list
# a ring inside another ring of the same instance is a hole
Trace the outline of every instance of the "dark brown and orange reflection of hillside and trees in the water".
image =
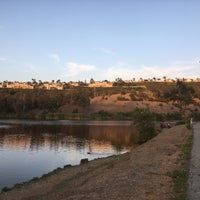
[[(95, 143), (90, 141), (96, 141)], [(132, 146), (137, 134), (129, 126), (88, 125), (19, 125), (0, 129), (0, 146), (29, 148), (41, 147), (58, 150), (61, 148), (85, 149), (87, 145), (112, 144), (116, 150)]]

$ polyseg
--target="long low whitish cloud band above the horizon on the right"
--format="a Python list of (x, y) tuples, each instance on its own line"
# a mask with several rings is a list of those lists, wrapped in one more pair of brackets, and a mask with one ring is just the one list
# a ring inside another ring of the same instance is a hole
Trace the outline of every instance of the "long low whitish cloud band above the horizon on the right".
[(115, 80), (120, 77), (126, 79), (142, 78), (162, 78), (168, 76), (170, 78), (198, 76), (196, 71), (199, 68), (199, 59), (192, 61), (176, 61), (168, 66), (131, 66), (125, 62), (118, 62), (116, 65), (107, 68), (103, 72), (103, 76), (108, 80)]

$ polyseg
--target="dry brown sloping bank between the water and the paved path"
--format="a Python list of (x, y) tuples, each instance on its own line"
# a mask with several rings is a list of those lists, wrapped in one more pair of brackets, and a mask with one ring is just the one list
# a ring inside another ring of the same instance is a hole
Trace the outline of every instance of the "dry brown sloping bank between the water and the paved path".
[(128, 154), (67, 168), (0, 194), (0, 199), (170, 200), (173, 189), (167, 172), (178, 167), (180, 146), (190, 134), (185, 126), (165, 129)]

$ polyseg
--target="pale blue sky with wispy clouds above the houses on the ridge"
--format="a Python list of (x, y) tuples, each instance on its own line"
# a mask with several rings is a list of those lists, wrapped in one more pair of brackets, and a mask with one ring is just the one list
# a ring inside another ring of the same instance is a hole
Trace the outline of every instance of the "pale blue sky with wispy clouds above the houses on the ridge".
[(199, 0), (0, 0), (0, 81), (200, 77)]

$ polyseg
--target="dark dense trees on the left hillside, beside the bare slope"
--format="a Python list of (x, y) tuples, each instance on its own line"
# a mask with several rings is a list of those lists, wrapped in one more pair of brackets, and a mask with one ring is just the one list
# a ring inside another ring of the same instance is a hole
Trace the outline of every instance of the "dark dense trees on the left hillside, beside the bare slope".
[(76, 90), (0, 90), (0, 113), (26, 113), (33, 110), (56, 111), (63, 105), (86, 107), (90, 104), (89, 89)]

